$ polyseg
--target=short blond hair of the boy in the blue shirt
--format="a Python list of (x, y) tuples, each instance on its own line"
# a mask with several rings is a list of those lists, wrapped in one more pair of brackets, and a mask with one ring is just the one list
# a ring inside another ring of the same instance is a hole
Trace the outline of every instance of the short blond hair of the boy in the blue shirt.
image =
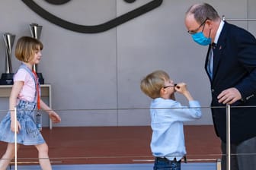
[(165, 81), (170, 77), (165, 71), (154, 71), (140, 82), (140, 89), (152, 99), (160, 97), (160, 90), (165, 87)]

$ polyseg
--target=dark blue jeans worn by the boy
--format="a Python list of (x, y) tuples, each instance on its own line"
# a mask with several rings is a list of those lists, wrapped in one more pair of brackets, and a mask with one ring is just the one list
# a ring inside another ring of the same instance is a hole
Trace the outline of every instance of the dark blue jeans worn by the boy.
[(170, 161), (166, 158), (155, 158), (154, 170), (181, 170), (181, 161)]

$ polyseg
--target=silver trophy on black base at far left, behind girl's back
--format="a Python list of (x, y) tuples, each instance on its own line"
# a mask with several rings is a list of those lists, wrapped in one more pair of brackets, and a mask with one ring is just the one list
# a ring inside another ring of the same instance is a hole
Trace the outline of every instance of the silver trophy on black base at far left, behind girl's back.
[(4, 33), (5, 41), (5, 73), (2, 74), (1, 84), (13, 84), (12, 66), (11, 66), (11, 49), (14, 44), (15, 35), (11, 33)]

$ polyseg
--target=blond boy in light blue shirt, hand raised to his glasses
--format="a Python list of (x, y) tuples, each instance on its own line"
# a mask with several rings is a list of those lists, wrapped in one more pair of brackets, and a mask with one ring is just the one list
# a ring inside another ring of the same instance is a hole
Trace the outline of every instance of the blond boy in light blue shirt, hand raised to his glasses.
[[(150, 105), (150, 146), (155, 156), (154, 170), (180, 170), (181, 159), (186, 154), (183, 122), (201, 118), (200, 104), (190, 95), (185, 83), (174, 84), (165, 71), (147, 75), (142, 79), (140, 88), (153, 99)], [(175, 92), (187, 98), (189, 107), (175, 100)]]

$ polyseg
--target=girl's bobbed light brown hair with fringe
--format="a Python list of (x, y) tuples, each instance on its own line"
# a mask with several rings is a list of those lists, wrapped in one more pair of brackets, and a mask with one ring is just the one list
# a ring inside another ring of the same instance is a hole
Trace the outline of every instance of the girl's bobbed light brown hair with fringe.
[(43, 44), (30, 36), (22, 36), (18, 39), (15, 56), (20, 61), (28, 62), (34, 58), (36, 50), (42, 50)]

